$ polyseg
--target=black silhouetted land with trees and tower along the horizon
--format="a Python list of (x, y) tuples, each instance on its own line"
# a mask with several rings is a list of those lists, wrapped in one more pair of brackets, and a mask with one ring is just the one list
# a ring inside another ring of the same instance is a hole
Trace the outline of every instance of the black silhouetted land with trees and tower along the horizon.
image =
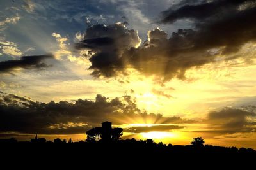
[[(121, 162), (158, 162), (166, 164), (183, 164), (184, 162), (207, 162), (212, 164), (229, 164), (228, 161), (243, 164), (244, 161), (256, 158), (256, 151), (252, 148), (236, 148), (205, 145), (204, 139), (196, 137), (191, 145), (172, 145), (162, 142), (155, 143), (152, 139), (136, 140), (120, 139), (122, 129), (113, 130), (110, 122), (102, 123), (102, 127), (87, 131), (87, 139), (72, 141), (72, 139), (56, 138), (47, 141), (36, 135), (31, 141), (17, 141), (15, 138), (0, 139), (1, 155), (6, 159), (20, 160), (61, 160), (76, 161), (107, 161), (111, 164)], [(96, 161), (96, 162), (97, 162)], [(158, 164), (157, 163), (157, 164)], [(230, 164), (229, 166), (234, 166)]]

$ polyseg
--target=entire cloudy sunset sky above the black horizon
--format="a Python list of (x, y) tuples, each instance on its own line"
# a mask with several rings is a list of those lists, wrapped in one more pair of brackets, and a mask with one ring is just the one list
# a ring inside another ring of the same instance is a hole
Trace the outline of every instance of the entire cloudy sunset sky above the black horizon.
[(256, 148), (256, 1), (1, 0), (0, 138)]

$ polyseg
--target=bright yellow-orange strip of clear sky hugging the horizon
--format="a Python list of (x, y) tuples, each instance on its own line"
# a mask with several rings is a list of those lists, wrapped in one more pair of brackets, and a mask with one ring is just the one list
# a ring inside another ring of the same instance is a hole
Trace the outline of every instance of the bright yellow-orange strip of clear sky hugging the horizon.
[[(172, 131), (172, 132), (148, 132), (148, 133), (138, 133), (134, 134), (131, 132), (124, 132), (121, 139), (131, 139), (135, 138), (136, 140), (147, 140), (153, 139), (154, 142), (159, 143), (163, 142), (165, 144), (171, 143), (172, 145), (190, 145), (190, 142), (193, 140), (193, 137), (202, 136), (205, 140), (205, 144), (216, 145), (216, 146), (236, 146), (236, 147), (250, 147), (255, 148), (255, 133), (236, 133), (236, 134), (224, 134), (221, 136), (208, 136), (207, 134), (198, 134), (195, 132), (182, 132), (182, 131)], [(18, 141), (30, 141), (30, 139), (35, 138), (35, 134), (25, 134), (15, 136)], [(38, 134), (38, 138), (46, 138), (47, 141), (53, 141), (56, 138), (60, 139), (70, 139), (72, 141), (85, 141), (86, 134)], [(243, 141), (241, 143), (241, 141)]]

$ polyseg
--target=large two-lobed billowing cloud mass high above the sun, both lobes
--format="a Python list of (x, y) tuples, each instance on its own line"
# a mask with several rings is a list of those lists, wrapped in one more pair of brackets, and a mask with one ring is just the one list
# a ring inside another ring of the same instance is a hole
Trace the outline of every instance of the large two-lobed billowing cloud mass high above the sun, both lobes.
[[(157, 28), (149, 31), (148, 41), (138, 47), (140, 38), (136, 32), (131, 31), (132, 34), (124, 36), (124, 31), (128, 31), (124, 25), (116, 24), (115, 27), (122, 28), (122, 33), (116, 29), (108, 31), (104, 25), (95, 25), (92, 32), (88, 31), (90, 29), (86, 31), (88, 35), (95, 34), (93, 39), (85, 38), (77, 44), (77, 48), (88, 48), (94, 53), (89, 59), (93, 76), (111, 77), (118, 73), (125, 74), (127, 69), (133, 68), (146, 76), (163, 76), (170, 80), (173, 77), (184, 78), (186, 69), (214, 60), (211, 55), (188, 50), (191, 46), (189, 38), (193, 37), (195, 31), (179, 30), (168, 40), (166, 33)], [(108, 32), (111, 32), (111, 36)]]

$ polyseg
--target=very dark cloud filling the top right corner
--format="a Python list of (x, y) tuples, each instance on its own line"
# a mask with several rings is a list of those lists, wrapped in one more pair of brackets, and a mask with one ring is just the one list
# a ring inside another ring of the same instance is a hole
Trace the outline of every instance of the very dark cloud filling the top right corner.
[[(242, 8), (244, 6), (244, 8)], [(224, 47), (223, 53), (237, 52), (244, 43), (255, 41), (255, 1), (210, 1), (196, 5), (186, 4), (177, 10), (163, 12), (161, 22), (195, 20), (196, 31), (189, 40), (191, 50)]]

